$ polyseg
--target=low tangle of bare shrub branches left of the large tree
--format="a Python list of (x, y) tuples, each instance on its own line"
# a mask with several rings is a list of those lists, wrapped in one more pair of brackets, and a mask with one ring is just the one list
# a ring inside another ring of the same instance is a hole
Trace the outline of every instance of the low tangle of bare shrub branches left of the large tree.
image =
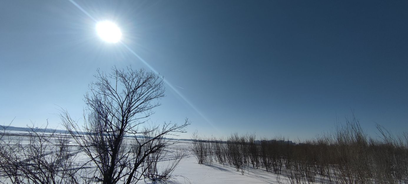
[[(78, 183), (73, 171), (78, 152), (68, 146), (69, 137), (55, 130), (35, 129), (22, 136), (7, 133), (0, 141), (0, 174), (13, 184)], [(0, 181), (1, 182), (1, 181)]]

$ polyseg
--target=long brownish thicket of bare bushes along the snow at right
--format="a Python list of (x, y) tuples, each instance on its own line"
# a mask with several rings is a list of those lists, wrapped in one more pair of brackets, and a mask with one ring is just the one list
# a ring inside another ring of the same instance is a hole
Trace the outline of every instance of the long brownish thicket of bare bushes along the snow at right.
[(334, 132), (303, 143), (284, 137), (256, 141), (255, 134), (233, 133), (225, 142), (215, 138), (205, 142), (212, 146), (195, 141), (192, 150), (199, 164), (230, 164), (242, 174), (249, 166), (264, 168), (288, 176), (291, 184), (408, 183), (408, 135), (395, 138), (384, 127), (377, 129), (380, 140), (368, 137), (353, 114)]

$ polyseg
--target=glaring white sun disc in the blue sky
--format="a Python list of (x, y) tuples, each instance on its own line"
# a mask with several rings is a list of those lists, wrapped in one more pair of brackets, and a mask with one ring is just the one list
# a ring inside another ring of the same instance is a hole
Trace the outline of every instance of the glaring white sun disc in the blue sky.
[(111, 21), (102, 21), (96, 24), (96, 31), (102, 40), (109, 43), (117, 43), (122, 37), (122, 32), (115, 23)]

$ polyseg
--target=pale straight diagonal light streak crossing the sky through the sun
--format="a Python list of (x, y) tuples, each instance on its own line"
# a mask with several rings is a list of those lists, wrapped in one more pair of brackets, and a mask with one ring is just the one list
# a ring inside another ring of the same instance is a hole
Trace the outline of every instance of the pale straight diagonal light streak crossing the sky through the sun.
[[(83, 13), (85, 13), (86, 16), (88, 16), (89, 18), (91, 18), (93, 21), (97, 22), (97, 20), (95, 18), (93, 18), (86, 10), (84, 10), (79, 4), (77, 4), (75, 1), (73, 0), (69, 0), (69, 2), (71, 2), (75, 7), (77, 7), (78, 9), (80, 9)], [(122, 41), (120, 41), (120, 43), (122, 43), (122, 45), (129, 51), (131, 52), (134, 56), (136, 56), (140, 61), (142, 61), (142, 63), (144, 63), (147, 67), (149, 67), (150, 70), (152, 70), (153, 72), (155, 72), (156, 74), (159, 74), (159, 72), (157, 72), (151, 65), (149, 65), (149, 63), (147, 63), (146, 61), (144, 61), (143, 58), (141, 58), (138, 54), (136, 54), (136, 52), (134, 52), (130, 47), (128, 47), (125, 43), (123, 43)], [(160, 74), (159, 74), (160, 75)], [(198, 110), (193, 103), (191, 103), (190, 101), (188, 101), (188, 99), (186, 99), (186, 97), (184, 97), (176, 88), (173, 87), (173, 85), (167, 81), (166, 79), (163, 79), (164, 83), (166, 83), (178, 96), (180, 96), (180, 98), (182, 98), (184, 100), (184, 102), (186, 102), (191, 108), (193, 108), (193, 110), (195, 112), (197, 112), (197, 114), (199, 114), (205, 121), (207, 121), (208, 124), (210, 124), (214, 130), (216, 130), (218, 133), (221, 133), (220, 130), (218, 130), (218, 128), (216, 128), (213, 123), (211, 123), (210, 120), (207, 119), (207, 117), (202, 114), (200, 112), (200, 110)], [(177, 86), (177, 85), (176, 85)], [(179, 88), (182, 88), (180, 86), (177, 86)], [(184, 88), (182, 88), (184, 89)]]

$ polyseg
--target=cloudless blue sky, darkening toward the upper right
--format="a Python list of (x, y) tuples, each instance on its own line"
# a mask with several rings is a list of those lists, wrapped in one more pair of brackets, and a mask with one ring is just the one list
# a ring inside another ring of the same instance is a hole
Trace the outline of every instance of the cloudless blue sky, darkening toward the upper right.
[[(408, 130), (408, 1), (75, 2), (187, 99), (166, 85), (151, 117), (188, 117), (185, 138), (313, 138), (352, 109), (372, 135)], [(129, 64), (148, 68), (68, 0), (0, 2), (1, 124), (55, 127), (58, 106), (80, 119), (96, 69)]]

